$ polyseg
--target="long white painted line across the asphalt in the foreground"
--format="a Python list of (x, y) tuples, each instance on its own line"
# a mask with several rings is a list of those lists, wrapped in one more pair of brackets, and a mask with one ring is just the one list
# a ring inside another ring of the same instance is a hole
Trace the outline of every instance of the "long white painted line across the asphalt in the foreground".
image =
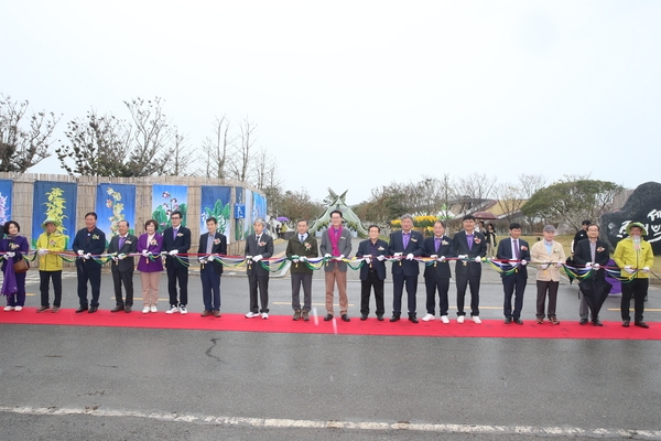
[(408, 430), (436, 433), (472, 433), (472, 434), (530, 434), (554, 437), (581, 438), (627, 438), (633, 440), (661, 439), (661, 430), (636, 429), (582, 429), (567, 427), (531, 427), (531, 426), (476, 426), (476, 424), (425, 424), (410, 422), (379, 422), (379, 421), (321, 421), (321, 420), (292, 420), (280, 418), (247, 418), (223, 417), (182, 413), (140, 412), (129, 410), (93, 409), (93, 408), (35, 408), (0, 406), (0, 412), (22, 415), (46, 415), (66, 417), (69, 415), (88, 415), (93, 417), (132, 417), (145, 418), (158, 421), (188, 422), (198, 424), (220, 426), (251, 426), (262, 428), (304, 428), (304, 429), (345, 429), (345, 430)]

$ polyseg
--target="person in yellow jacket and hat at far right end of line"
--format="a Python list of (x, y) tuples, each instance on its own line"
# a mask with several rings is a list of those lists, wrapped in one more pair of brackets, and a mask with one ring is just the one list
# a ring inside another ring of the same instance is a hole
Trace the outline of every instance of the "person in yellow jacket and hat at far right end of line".
[(644, 298), (647, 297), (650, 284), (649, 272), (654, 263), (654, 254), (652, 246), (642, 239), (647, 236), (644, 225), (639, 222), (632, 222), (627, 225), (628, 237), (617, 243), (613, 260), (620, 268), (622, 278), (622, 300), (620, 303), (620, 313), (622, 314), (622, 326), (629, 327), (631, 316), (629, 309), (631, 305), (631, 295), (633, 295), (633, 324), (640, 327), (650, 327), (642, 321), (644, 312)]

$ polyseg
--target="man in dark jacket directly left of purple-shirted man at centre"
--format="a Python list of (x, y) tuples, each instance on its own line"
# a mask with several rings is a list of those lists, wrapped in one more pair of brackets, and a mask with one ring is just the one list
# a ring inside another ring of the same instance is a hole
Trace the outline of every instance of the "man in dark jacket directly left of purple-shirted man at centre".
[[(307, 267), (308, 257), (318, 257), (319, 251), (316, 239), (307, 233), (307, 220), (299, 219), (296, 234), (286, 244), (286, 257), (292, 259), (290, 273), (292, 277), (292, 320), (310, 320), (312, 309), (312, 269)], [(301, 311), (301, 286), (303, 286), (303, 310)]]

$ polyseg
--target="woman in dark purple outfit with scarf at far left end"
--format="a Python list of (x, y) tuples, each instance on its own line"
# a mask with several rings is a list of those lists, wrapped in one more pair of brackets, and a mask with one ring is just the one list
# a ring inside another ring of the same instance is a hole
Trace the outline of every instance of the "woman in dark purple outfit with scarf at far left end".
[(28, 239), (20, 236), (21, 226), (15, 220), (9, 220), (4, 224), (7, 236), (0, 240), (0, 256), (2, 257), (2, 295), (7, 295), (7, 306), (4, 311), (21, 311), (25, 305), (25, 272), (15, 273), (14, 262), (28, 254), (30, 247)]

